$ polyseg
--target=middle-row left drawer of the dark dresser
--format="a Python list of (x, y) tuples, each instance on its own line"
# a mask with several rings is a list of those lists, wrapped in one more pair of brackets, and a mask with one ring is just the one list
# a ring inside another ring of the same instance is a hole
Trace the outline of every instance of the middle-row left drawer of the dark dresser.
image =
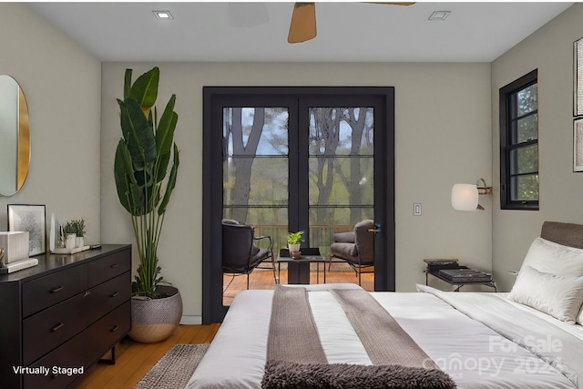
[(90, 309), (85, 293), (38, 312), (23, 321), (23, 360), (34, 362), (87, 327)]

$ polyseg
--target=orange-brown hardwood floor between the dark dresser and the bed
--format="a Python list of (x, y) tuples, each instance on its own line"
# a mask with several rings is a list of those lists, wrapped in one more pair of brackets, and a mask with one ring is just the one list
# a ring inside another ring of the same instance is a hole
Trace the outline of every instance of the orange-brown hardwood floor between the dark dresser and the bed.
[[(116, 364), (97, 363), (73, 388), (133, 389), (174, 344), (210, 343), (219, 327), (219, 323), (179, 325), (169, 339), (159, 343), (137, 343), (126, 338), (116, 346)], [(104, 357), (109, 358), (110, 354)]]

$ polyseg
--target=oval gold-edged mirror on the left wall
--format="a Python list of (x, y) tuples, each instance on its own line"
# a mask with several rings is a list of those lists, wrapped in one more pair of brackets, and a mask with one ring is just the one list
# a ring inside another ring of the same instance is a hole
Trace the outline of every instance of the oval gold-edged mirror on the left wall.
[(0, 195), (22, 188), (30, 163), (30, 128), (25, 94), (13, 77), (0, 76)]

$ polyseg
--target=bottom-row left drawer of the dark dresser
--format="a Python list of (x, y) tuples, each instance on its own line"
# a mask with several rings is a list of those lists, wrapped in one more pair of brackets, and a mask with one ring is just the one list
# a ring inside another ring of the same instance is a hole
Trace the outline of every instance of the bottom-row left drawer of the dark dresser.
[[(25, 388), (63, 389), (79, 376), (87, 373), (89, 363), (85, 349), (86, 343), (87, 331), (84, 331), (36, 361), (30, 367), (44, 368), (48, 374), (25, 374)], [(66, 368), (66, 370), (58, 371), (54, 366)]]

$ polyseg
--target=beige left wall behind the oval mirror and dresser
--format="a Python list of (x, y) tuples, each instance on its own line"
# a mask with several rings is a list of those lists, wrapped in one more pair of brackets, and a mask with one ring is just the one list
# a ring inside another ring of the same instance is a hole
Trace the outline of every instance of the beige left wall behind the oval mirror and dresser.
[(23, 189), (6, 204), (45, 204), (59, 220), (85, 218), (87, 242), (100, 236), (101, 64), (27, 5), (0, 3), (0, 74), (22, 87), (32, 158)]

